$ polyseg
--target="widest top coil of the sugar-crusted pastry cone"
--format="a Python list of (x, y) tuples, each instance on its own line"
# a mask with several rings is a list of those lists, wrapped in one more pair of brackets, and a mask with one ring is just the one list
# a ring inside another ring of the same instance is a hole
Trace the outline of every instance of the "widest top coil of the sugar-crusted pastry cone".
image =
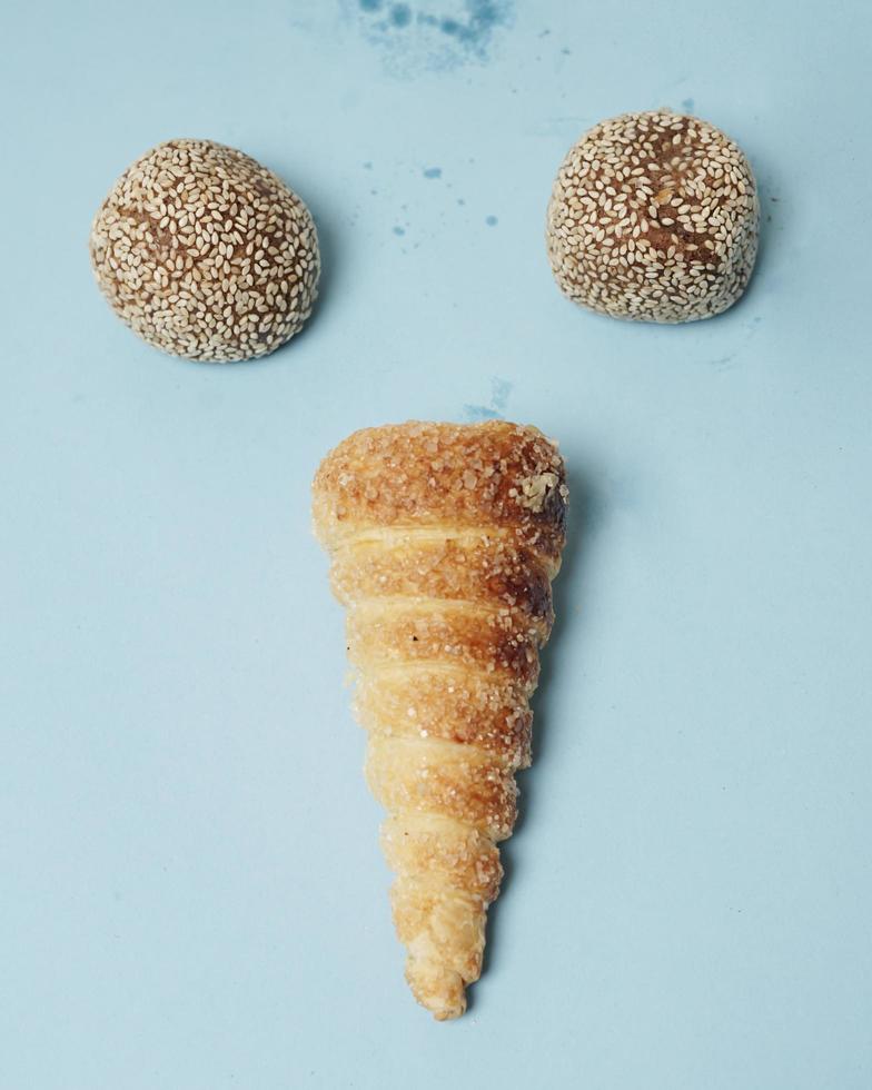
[(386, 425), (355, 432), (315, 477), (315, 531), (327, 548), (385, 527), (488, 527), (555, 563), (566, 532), (566, 479), (536, 428)]

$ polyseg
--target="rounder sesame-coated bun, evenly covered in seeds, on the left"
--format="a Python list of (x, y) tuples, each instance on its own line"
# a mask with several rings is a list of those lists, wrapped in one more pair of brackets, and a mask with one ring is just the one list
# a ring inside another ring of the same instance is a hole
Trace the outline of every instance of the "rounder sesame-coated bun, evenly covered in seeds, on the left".
[(118, 317), (186, 359), (265, 356), (299, 333), (317, 295), (309, 210), (266, 167), (210, 140), (170, 140), (129, 167), (90, 250)]

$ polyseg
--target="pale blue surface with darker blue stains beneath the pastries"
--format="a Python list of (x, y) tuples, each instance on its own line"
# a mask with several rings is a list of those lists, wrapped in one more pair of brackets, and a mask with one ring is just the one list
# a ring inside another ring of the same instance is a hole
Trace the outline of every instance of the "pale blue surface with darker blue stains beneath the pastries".
[[(2, 7), (0, 1086), (868, 1088), (870, 8), (366, 9)], [(545, 205), (664, 105), (744, 147), (762, 251), (723, 317), (624, 325), (561, 297)], [(317, 219), (316, 317), (264, 361), (164, 357), (91, 281), (99, 202), (177, 136)], [(559, 438), (572, 539), (437, 1025), (308, 489), (355, 428), (495, 413)]]

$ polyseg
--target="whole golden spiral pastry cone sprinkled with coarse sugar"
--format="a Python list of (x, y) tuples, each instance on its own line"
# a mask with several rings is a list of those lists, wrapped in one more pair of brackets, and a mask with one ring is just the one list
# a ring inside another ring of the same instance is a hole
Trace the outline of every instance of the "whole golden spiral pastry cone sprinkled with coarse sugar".
[(566, 501), (556, 446), (502, 420), (356, 432), (315, 477), (406, 979), (439, 1020), (482, 971)]

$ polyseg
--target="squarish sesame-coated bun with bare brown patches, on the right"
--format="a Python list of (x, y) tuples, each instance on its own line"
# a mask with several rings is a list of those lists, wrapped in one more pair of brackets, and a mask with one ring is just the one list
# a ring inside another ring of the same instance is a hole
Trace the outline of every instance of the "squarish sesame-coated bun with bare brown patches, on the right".
[(747, 159), (720, 129), (670, 110), (624, 113), (564, 159), (548, 259), (563, 294), (591, 310), (695, 321), (744, 291), (759, 219)]

